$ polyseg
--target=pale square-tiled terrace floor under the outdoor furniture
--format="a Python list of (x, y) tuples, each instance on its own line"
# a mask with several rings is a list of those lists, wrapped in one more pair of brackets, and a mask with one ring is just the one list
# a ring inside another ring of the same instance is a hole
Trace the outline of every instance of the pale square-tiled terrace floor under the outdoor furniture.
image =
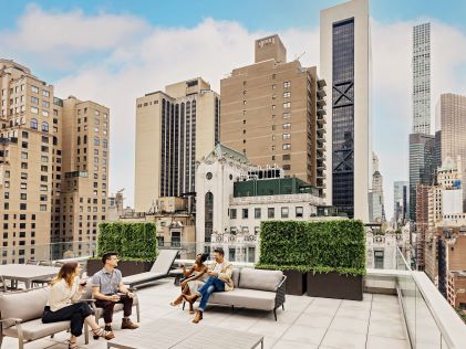
[[(151, 319), (172, 318), (189, 324), (193, 315), (187, 307), (172, 307), (179, 287), (173, 279), (160, 281), (152, 287), (138, 290), (141, 302), (141, 326)], [(287, 296), (284, 311), (277, 310), (278, 321), (272, 311), (235, 309), (213, 306), (207, 309), (204, 320), (197, 326), (215, 326), (265, 335), (265, 348), (410, 348), (403, 326), (402, 311), (396, 296), (364, 294), (363, 302)], [(115, 336), (124, 336), (121, 330), (122, 313), (115, 315)], [(135, 320), (135, 316), (133, 316)], [(102, 325), (102, 324), (101, 324)], [(180, 328), (183, 330), (183, 328)], [(137, 331), (137, 330), (136, 330)], [(154, 332), (157, 329), (154, 328)], [(69, 335), (61, 332), (54, 339), (45, 338), (25, 345), (27, 349), (68, 348)], [(84, 345), (84, 337), (77, 340), (80, 348), (104, 349), (106, 341), (94, 340)], [(6, 338), (2, 348), (18, 348), (18, 340)], [(154, 342), (154, 348), (157, 343)]]

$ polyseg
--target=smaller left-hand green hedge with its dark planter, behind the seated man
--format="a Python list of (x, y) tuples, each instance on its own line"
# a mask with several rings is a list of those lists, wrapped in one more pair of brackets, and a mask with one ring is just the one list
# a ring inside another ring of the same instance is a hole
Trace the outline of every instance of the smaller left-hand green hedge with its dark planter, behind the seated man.
[(102, 255), (116, 252), (117, 268), (123, 276), (148, 272), (157, 257), (157, 239), (154, 223), (101, 223), (99, 224), (97, 256), (87, 261), (87, 274), (103, 267)]

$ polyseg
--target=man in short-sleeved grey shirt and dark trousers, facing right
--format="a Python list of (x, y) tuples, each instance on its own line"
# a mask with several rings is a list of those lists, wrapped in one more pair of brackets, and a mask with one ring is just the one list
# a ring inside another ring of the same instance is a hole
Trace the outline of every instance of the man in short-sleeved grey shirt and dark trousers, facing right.
[(134, 294), (123, 285), (122, 272), (115, 268), (118, 265), (118, 254), (104, 253), (102, 263), (104, 267), (92, 277), (92, 297), (96, 299), (95, 306), (104, 309), (105, 331), (113, 331), (113, 308), (116, 303), (123, 304), (122, 329), (137, 328), (130, 319)]

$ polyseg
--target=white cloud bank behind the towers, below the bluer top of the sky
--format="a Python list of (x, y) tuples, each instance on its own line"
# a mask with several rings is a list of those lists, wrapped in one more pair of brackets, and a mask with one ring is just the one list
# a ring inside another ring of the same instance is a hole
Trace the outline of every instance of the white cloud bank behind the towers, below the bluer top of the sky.
[[(418, 22), (372, 22), (373, 149), (384, 176), (389, 216), (393, 181), (407, 179), (411, 32)], [(432, 30), (435, 102), (441, 92), (466, 93), (466, 38), (437, 21)], [(238, 22), (214, 19), (194, 28), (158, 28), (132, 15), (90, 17), (81, 10), (48, 12), (32, 6), (18, 19), (17, 28), (0, 32), (0, 41), (14, 59), (28, 57), (48, 68), (69, 71), (49, 82), (55, 84), (58, 94), (73, 94), (111, 108), (111, 191), (126, 188), (126, 203), (132, 204), (136, 97), (195, 76), (219, 91), (220, 78), (253, 62), (253, 41), (267, 34), (271, 33), (250, 32)], [(300, 60), (304, 66), (319, 64), (318, 28), (279, 34), (289, 60), (306, 52)], [(34, 64), (29, 64), (33, 72)]]

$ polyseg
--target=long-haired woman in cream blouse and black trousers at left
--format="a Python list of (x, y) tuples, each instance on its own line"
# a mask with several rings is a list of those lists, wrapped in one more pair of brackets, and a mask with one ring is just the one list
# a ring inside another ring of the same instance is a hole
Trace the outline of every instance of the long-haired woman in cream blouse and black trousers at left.
[(83, 332), (84, 321), (91, 327), (94, 336), (112, 339), (115, 336), (106, 332), (95, 322), (93, 311), (86, 303), (73, 303), (81, 298), (85, 282), (79, 284), (82, 267), (77, 262), (62, 265), (59, 274), (52, 279), (49, 300), (43, 310), (42, 322), (71, 321), (69, 349), (77, 349), (76, 337)]

